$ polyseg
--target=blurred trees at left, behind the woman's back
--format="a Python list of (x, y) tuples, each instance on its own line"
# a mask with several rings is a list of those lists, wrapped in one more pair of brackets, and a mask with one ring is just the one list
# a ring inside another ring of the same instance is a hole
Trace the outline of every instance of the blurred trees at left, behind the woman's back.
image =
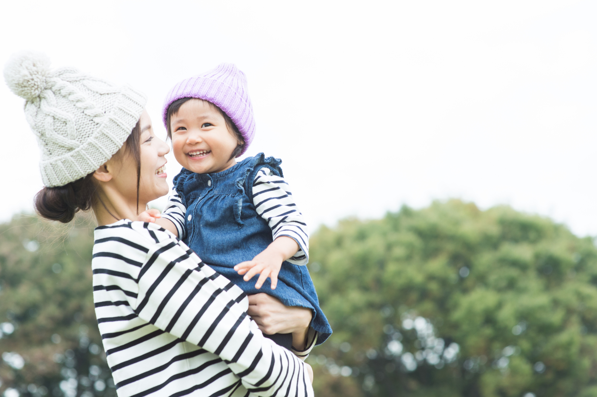
[[(0, 392), (115, 396), (91, 283), (93, 222), (0, 225)], [(110, 387), (112, 386), (112, 387)]]

